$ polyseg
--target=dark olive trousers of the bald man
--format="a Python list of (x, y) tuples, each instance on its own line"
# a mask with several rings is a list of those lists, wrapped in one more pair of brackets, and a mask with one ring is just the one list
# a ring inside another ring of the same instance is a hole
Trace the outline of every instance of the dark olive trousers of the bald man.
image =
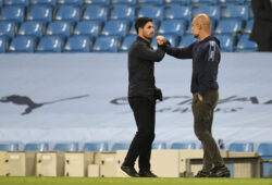
[(202, 171), (206, 172), (209, 172), (212, 169), (212, 164), (215, 166), (224, 164), (223, 159), (220, 156), (218, 145), (211, 134), (213, 110), (218, 104), (218, 90), (210, 90), (207, 92), (202, 101), (200, 101), (197, 94), (195, 94), (191, 103), (194, 113), (194, 130), (196, 136), (203, 146)]

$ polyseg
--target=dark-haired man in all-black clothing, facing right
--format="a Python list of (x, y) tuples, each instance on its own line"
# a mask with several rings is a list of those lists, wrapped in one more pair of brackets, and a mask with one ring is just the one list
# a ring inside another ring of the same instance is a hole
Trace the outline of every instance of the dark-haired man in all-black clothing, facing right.
[[(150, 171), (150, 156), (154, 139), (156, 100), (162, 100), (162, 94), (154, 86), (153, 73), (154, 62), (161, 61), (165, 52), (161, 47), (158, 47), (158, 50), (150, 47), (153, 37), (152, 20), (139, 17), (135, 28), (138, 37), (128, 51), (128, 102), (134, 112), (137, 133), (121, 170), (134, 177), (157, 177)], [(139, 173), (134, 169), (137, 158)]]

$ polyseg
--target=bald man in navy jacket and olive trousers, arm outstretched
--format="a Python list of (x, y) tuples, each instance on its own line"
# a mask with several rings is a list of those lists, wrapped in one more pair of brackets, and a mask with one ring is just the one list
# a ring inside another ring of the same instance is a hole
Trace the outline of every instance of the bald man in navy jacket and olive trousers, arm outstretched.
[(196, 177), (230, 177), (230, 171), (220, 156), (211, 133), (213, 110), (219, 100), (217, 79), (221, 54), (220, 41), (211, 36), (210, 24), (207, 14), (194, 17), (191, 30), (199, 41), (185, 48), (171, 47), (163, 36), (158, 36), (157, 40), (168, 54), (178, 59), (193, 59), (190, 91), (194, 95), (191, 102), (194, 131), (203, 146), (203, 168)]

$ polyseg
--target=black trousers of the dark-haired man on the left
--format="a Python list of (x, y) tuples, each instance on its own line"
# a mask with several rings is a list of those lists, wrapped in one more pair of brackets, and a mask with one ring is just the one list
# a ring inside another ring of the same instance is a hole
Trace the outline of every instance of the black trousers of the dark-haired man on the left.
[(150, 170), (151, 146), (154, 139), (156, 101), (147, 97), (129, 97), (129, 106), (134, 112), (137, 133), (127, 151), (124, 165), (133, 166), (136, 159), (140, 171)]

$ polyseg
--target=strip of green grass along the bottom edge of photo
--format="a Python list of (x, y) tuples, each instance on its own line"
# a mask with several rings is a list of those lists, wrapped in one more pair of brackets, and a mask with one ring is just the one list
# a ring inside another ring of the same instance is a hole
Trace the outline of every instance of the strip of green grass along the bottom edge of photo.
[(0, 185), (272, 185), (272, 178), (0, 177)]

